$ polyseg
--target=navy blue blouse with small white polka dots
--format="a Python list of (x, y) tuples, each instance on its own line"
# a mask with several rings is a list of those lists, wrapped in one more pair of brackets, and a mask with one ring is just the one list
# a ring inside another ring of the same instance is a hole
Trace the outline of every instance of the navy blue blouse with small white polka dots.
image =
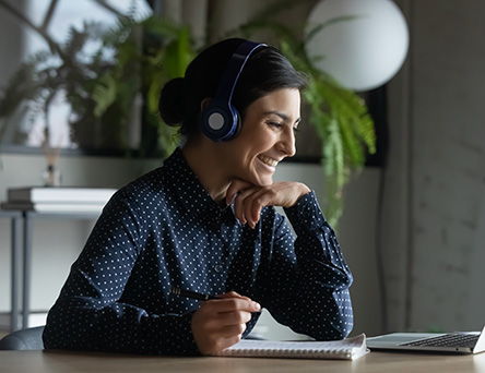
[[(171, 287), (258, 301), (281, 324), (316, 339), (353, 325), (352, 274), (311, 192), (285, 209), (264, 207), (256, 229), (221, 207), (176, 149), (105, 206), (49, 311), (48, 349), (197, 354), (200, 301)], [(244, 336), (255, 326), (255, 313)]]

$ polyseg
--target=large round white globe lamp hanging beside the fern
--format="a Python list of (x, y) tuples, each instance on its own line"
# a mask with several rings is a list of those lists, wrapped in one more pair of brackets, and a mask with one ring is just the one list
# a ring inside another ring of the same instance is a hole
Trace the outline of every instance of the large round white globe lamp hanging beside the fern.
[(311, 10), (307, 33), (331, 22), (307, 44), (315, 65), (342, 86), (368, 91), (401, 69), (409, 48), (404, 15), (391, 0), (323, 0)]

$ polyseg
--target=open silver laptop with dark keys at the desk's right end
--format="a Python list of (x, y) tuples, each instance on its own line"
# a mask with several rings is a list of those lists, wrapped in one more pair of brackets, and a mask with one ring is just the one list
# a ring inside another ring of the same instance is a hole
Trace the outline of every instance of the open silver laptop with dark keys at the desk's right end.
[(485, 351), (485, 327), (482, 332), (391, 333), (368, 337), (367, 347), (370, 350), (478, 353)]

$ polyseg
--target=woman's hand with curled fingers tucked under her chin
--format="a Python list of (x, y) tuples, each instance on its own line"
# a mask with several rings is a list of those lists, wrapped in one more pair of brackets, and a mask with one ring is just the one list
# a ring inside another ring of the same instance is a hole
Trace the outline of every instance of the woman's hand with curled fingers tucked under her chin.
[(226, 203), (234, 200), (234, 212), (240, 224), (255, 228), (264, 206), (292, 207), (310, 189), (300, 182), (274, 182), (268, 186), (255, 186), (235, 180), (227, 189)]

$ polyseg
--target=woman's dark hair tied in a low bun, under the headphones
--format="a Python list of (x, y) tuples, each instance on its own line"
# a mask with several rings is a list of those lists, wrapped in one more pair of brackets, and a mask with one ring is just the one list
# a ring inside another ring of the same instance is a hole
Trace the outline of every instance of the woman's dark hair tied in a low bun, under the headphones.
[[(244, 39), (226, 39), (203, 50), (189, 64), (185, 77), (169, 81), (162, 89), (158, 109), (168, 125), (180, 134), (199, 132), (201, 101), (213, 97), (229, 58)], [(234, 89), (232, 104), (244, 118), (248, 106), (281, 88), (303, 89), (306, 79), (274, 47), (260, 47), (248, 59)]]

